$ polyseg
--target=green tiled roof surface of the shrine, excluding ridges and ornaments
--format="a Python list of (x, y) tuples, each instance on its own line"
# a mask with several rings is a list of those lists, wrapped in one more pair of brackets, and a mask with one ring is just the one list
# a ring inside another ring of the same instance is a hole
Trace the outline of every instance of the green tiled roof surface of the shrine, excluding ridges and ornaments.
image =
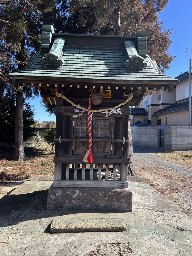
[(55, 69), (43, 69), (41, 59), (44, 57), (40, 51), (34, 54), (26, 67), (18, 72), (9, 74), (13, 76), (47, 76), (75, 78), (81, 80), (105, 80), (105, 81), (164, 81), (171, 82), (176, 79), (165, 76), (159, 70), (156, 62), (148, 56), (145, 61), (147, 68), (139, 72), (127, 72), (124, 62), (124, 49), (112, 48), (109, 50), (100, 49), (73, 49), (65, 47), (63, 49), (63, 66)]

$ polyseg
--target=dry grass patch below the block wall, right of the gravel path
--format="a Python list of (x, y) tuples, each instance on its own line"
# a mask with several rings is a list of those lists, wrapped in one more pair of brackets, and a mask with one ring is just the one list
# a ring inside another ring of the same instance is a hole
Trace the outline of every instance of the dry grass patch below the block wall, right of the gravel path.
[(172, 151), (165, 153), (153, 153), (151, 155), (163, 158), (166, 161), (171, 161), (181, 166), (192, 168), (192, 150), (189, 151)]

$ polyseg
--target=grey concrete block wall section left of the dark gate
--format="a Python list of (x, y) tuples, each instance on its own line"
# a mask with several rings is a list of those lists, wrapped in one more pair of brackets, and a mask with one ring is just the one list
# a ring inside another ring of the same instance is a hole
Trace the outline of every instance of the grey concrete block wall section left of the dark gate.
[(159, 147), (160, 126), (132, 126), (133, 145)]

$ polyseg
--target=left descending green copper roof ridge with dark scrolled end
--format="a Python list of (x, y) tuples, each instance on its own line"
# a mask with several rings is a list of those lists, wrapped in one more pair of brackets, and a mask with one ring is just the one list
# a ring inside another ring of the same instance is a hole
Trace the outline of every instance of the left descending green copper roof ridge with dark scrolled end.
[(65, 38), (56, 38), (52, 44), (51, 50), (41, 59), (43, 68), (60, 68), (63, 65), (62, 54)]

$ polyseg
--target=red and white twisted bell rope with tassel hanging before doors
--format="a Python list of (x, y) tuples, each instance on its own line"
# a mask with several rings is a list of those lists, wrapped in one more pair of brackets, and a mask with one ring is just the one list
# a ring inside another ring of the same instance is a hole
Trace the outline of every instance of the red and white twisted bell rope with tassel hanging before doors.
[(91, 147), (92, 147), (92, 134), (91, 134), (91, 95), (94, 90), (92, 90), (90, 96), (89, 96), (89, 106), (88, 106), (88, 132), (89, 132), (89, 147), (87, 152), (85, 153), (85, 156), (83, 158), (83, 162), (86, 163), (93, 163), (93, 156), (91, 153)]

